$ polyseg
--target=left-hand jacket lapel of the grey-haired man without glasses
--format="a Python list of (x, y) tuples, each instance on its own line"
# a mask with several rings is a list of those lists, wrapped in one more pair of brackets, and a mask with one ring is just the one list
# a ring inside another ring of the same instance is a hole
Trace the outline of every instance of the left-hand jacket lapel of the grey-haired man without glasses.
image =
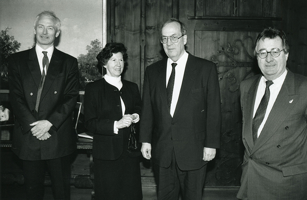
[(31, 75), (33, 77), (33, 80), (38, 89), (40, 86), (42, 73), (41, 73), (39, 59), (37, 57), (35, 47), (30, 49), (29, 60), (27, 63), (28, 63), (28, 67), (30, 69)]

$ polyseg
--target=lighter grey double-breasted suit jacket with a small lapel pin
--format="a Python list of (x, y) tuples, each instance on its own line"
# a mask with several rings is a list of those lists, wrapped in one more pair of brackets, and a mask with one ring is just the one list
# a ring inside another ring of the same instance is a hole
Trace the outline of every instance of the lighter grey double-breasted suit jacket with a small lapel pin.
[(240, 85), (243, 114), (241, 199), (307, 199), (307, 77), (288, 70), (256, 140), (253, 107), (261, 75)]

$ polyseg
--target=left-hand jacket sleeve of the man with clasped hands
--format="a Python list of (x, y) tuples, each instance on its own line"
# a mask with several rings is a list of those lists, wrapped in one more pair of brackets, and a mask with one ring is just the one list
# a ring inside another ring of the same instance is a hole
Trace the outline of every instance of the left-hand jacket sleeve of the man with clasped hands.
[(14, 114), (21, 125), (22, 132), (25, 134), (33, 126), (30, 124), (37, 121), (32, 114), (23, 91), (19, 64), (16, 62), (18, 58), (11, 55), (9, 57), (9, 83), (10, 83), (10, 102), (14, 109)]

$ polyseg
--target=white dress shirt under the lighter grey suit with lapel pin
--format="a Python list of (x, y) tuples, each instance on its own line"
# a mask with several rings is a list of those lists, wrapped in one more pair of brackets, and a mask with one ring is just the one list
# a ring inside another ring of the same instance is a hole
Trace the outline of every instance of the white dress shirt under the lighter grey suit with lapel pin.
[[(258, 136), (260, 135), (260, 132), (266, 122), (266, 119), (274, 105), (274, 102), (277, 98), (277, 95), (280, 91), (280, 88), (283, 84), (283, 81), (285, 79), (285, 76), (287, 74), (287, 70), (285, 70), (278, 78), (272, 80), (274, 84), (271, 84), (270, 87), (269, 87), (269, 90), (270, 90), (270, 98), (268, 100), (268, 104), (267, 104), (267, 108), (266, 108), (266, 111), (265, 111), (265, 115), (264, 115), (264, 118), (263, 118), (263, 121), (262, 123), (260, 124), (259, 126), (259, 129), (258, 129)], [(264, 92), (265, 92), (265, 87), (266, 87), (266, 81), (267, 79), (262, 76), (260, 81), (259, 81), (259, 85), (258, 85), (258, 89), (257, 89), (257, 94), (256, 94), (256, 99), (255, 99), (255, 105), (254, 105), (254, 111), (253, 111), (253, 117), (255, 116), (255, 113), (257, 111), (257, 108), (260, 104), (260, 101), (262, 99), (262, 96), (264, 95)]]

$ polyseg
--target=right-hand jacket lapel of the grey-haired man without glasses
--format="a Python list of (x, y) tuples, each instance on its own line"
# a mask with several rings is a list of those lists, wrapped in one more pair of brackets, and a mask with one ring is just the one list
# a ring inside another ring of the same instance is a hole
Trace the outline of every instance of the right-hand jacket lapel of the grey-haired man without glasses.
[(44, 87), (42, 90), (41, 100), (45, 97), (46, 93), (50, 89), (51, 85), (53, 84), (57, 74), (59, 73), (60, 67), (62, 66), (62, 57), (61, 53), (58, 49), (54, 48), (50, 64), (48, 67)]

